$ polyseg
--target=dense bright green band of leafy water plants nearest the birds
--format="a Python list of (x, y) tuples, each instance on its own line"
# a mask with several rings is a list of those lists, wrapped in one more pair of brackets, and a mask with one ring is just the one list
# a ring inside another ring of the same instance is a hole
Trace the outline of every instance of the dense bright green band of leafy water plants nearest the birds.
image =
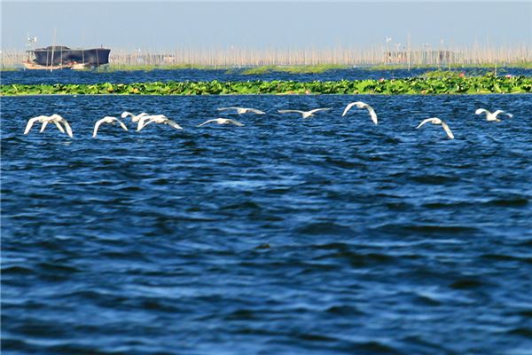
[(426, 75), (391, 80), (336, 82), (155, 82), (98, 84), (6, 84), (0, 95), (241, 95), (241, 94), (489, 94), (532, 92), (530, 76)]

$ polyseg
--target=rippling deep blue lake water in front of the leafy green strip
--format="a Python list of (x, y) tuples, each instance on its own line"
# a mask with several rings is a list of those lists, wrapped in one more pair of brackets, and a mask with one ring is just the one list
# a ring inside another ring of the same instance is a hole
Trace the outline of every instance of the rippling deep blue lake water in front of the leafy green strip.
[[(340, 117), (359, 99), (379, 125)], [(221, 106), (268, 114), (196, 127)], [(90, 137), (124, 110), (184, 130)], [(52, 113), (73, 139), (22, 134)], [(529, 95), (2, 98), (3, 352), (530, 354), (531, 113)], [(415, 129), (434, 115), (456, 139)]]

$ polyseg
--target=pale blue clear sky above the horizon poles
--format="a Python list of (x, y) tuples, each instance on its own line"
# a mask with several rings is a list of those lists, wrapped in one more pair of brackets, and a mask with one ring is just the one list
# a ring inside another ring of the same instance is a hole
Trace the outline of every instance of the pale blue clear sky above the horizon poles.
[(532, 46), (532, 1), (1, 0), (2, 50), (103, 45), (115, 50)]

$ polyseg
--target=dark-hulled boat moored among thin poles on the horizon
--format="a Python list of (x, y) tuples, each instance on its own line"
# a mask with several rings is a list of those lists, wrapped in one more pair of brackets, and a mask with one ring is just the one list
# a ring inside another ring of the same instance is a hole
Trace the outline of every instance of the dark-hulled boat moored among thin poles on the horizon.
[(64, 45), (37, 48), (31, 51), (35, 54), (33, 63), (35, 67), (71, 67), (83, 65), (86, 67), (98, 67), (109, 63), (108, 48), (70, 49)]

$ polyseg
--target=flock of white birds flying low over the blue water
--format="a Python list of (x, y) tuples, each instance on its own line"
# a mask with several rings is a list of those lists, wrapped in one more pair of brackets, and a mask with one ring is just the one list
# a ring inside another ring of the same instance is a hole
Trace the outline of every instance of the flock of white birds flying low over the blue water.
[[(341, 116), (343, 117), (346, 114), (348, 114), (349, 110), (353, 106), (356, 106), (357, 108), (365, 108), (365, 109), (367, 109), (368, 113), (370, 114), (370, 117), (372, 118), (372, 122), (375, 123), (375, 124), (379, 124), (379, 120), (377, 118), (377, 114), (375, 113), (375, 110), (373, 109), (373, 107), (369, 106), (368, 104), (366, 104), (366, 103), (364, 103), (362, 101), (356, 101), (356, 102), (349, 103), (348, 106), (345, 107), (345, 109), (343, 111), (343, 114), (341, 114)], [(296, 114), (301, 114), (302, 118), (309, 118), (309, 117), (314, 116), (314, 114), (317, 114), (318, 112), (328, 111), (328, 110), (331, 110), (331, 109), (332, 109), (332, 107), (315, 108), (315, 109), (309, 110), (309, 111), (278, 110), (278, 113), (279, 114), (296, 113)], [(218, 108), (218, 111), (227, 111), (227, 110), (231, 110), (231, 111), (233, 111), (236, 114), (266, 114), (264, 111), (257, 110), (255, 108), (248, 108), (248, 107), (231, 106), (231, 107), (220, 107), (220, 108)], [(486, 114), (486, 120), (487, 121), (493, 121), (493, 122), (500, 122), (501, 121), (501, 120), (499, 120), (497, 118), (499, 114), (505, 114), (508, 117), (512, 117), (512, 114), (505, 113), (505, 111), (503, 111), (503, 110), (497, 110), (495, 112), (489, 112), (488, 110), (486, 110), (484, 108), (477, 109), (475, 111), (475, 114)], [(127, 112), (127, 111), (123, 112), (121, 114), (121, 118), (122, 119), (125, 119), (127, 117), (130, 118), (131, 122), (137, 123), (137, 131), (144, 129), (148, 124), (151, 124), (151, 123), (167, 124), (168, 126), (170, 126), (172, 128), (175, 128), (176, 130), (183, 130), (183, 127), (181, 127), (176, 122), (170, 120), (164, 114), (146, 114), (145, 112), (143, 112), (142, 114), (131, 114), (130, 112)], [(59, 114), (52, 114), (50, 116), (40, 115), (40, 116), (36, 116), (36, 117), (30, 118), (27, 121), (27, 125), (26, 125), (26, 129), (24, 130), (24, 134), (27, 134), (29, 132), (29, 130), (31, 130), (31, 128), (35, 124), (35, 122), (42, 123), (40, 132), (42, 132), (46, 128), (48, 123), (54, 123), (56, 125), (56, 127), (58, 128), (58, 130), (60, 130), (62, 133), (66, 133), (70, 138), (74, 137), (74, 134), (72, 132), (72, 128), (70, 127), (70, 124), (66, 121), (66, 119), (61, 117)], [(449, 125), (446, 122), (444, 122), (442, 119), (438, 118), (438, 117), (427, 118), (426, 120), (423, 120), (421, 123), (419, 123), (419, 126), (416, 127), (416, 128), (419, 128), (419, 127), (423, 126), (425, 123), (429, 123), (429, 122), (433, 123), (433, 124), (441, 125), (442, 129), (447, 134), (447, 137), (450, 138), (450, 139), (454, 138), (454, 134), (450, 130)], [(128, 126), (126, 126), (126, 124), (123, 121), (121, 121), (120, 118), (112, 117), (112, 116), (106, 116), (106, 117), (98, 120), (94, 124), (94, 130), (92, 132), (92, 138), (95, 138), (97, 136), (98, 129), (104, 123), (114, 124), (114, 125), (118, 124), (118, 125), (121, 126), (121, 128), (123, 130), (128, 130)], [(236, 126), (244, 126), (244, 124), (242, 124), (241, 122), (239, 122), (237, 120), (233, 120), (233, 119), (230, 119), (230, 118), (218, 117), (218, 118), (215, 118), (213, 120), (208, 120), (206, 122), (203, 122), (203, 123), (199, 124), (198, 127), (201, 127), (201, 126), (206, 125), (208, 123), (234, 124)]]

